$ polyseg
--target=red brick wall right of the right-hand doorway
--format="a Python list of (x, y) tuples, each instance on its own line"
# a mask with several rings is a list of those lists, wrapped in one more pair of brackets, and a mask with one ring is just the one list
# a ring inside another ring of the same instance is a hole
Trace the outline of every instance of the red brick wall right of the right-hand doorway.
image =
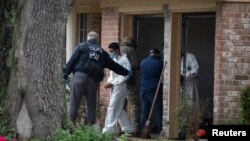
[(240, 115), (240, 90), (250, 84), (250, 3), (218, 3), (214, 124)]

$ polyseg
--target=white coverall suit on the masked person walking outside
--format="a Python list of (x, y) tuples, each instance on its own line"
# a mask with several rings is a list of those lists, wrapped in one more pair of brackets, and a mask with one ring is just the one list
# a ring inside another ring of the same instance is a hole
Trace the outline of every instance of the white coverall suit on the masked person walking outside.
[[(117, 58), (114, 58), (114, 61), (127, 70), (131, 70), (131, 64), (126, 56), (118, 56)], [(113, 88), (110, 93), (110, 102), (107, 109), (105, 126), (102, 130), (103, 133), (114, 133), (117, 121), (123, 132), (130, 133), (134, 131), (134, 127), (131, 124), (127, 113), (123, 109), (127, 92), (126, 80), (128, 80), (128, 78), (129, 76), (118, 75), (113, 71), (110, 71), (107, 82), (113, 84)]]

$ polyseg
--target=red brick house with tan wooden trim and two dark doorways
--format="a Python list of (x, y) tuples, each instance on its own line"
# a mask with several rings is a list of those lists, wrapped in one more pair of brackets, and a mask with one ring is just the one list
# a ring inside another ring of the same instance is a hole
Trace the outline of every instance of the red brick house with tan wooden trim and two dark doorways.
[[(184, 48), (200, 65), (200, 97), (209, 100), (206, 116), (213, 124), (239, 118), (240, 90), (250, 84), (250, 0), (77, 0), (67, 24), (67, 59), (91, 30), (101, 35), (105, 49), (110, 42), (133, 36), (141, 59), (152, 47), (162, 51), (168, 62), (163, 117), (167, 137), (178, 134), (173, 112), (179, 104)], [(103, 87), (100, 100), (109, 100)]]

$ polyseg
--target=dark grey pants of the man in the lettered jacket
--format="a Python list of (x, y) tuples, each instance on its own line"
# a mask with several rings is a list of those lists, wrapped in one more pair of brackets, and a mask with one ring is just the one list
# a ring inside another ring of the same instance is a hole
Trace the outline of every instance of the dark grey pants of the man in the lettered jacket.
[(73, 76), (72, 87), (70, 91), (69, 115), (72, 122), (75, 123), (77, 111), (81, 103), (82, 96), (86, 105), (86, 124), (95, 123), (96, 114), (96, 95), (99, 83), (94, 81), (86, 73), (76, 72)]

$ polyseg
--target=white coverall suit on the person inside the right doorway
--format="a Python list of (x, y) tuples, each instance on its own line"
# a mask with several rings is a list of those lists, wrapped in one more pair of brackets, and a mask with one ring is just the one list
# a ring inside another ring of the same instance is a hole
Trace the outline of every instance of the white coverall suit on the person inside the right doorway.
[(191, 53), (186, 54), (186, 77), (183, 70), (183, 58), (181, 60), (181, 74), (185, 77), (185, 93), (189, 95), (193, 105), (199, 106), (199, 93), (198, 93), (198, 70), (199, 65), (195, 56)]

